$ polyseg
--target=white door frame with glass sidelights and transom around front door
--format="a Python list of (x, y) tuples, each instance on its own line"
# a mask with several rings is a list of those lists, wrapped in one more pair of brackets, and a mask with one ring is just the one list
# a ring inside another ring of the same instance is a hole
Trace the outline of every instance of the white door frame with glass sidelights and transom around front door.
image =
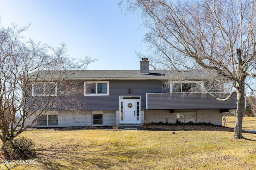
[[(134, 107), (139, 107), (139, 109), (135, 108), (136, 110), (136, 118), (134, 123), (126, 123), (125, 122), (125, 107), (124, 107), (124, 103), (125, 100), (134, 100), (136, 106)], [(137, 102), (138, 105), (137, 105)], [(141, 124), (141, 114), (140, 114), (140, 110), (141, 110), (141, 96), (119, 96), (119, 124)], [(137, 120), (138, 117), (138, 120)]]

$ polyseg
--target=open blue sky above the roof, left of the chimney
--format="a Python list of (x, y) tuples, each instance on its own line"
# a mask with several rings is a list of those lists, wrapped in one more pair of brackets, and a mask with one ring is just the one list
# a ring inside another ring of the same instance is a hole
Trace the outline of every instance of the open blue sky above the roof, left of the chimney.
[(66, 43), (72, 58), (97, 58), (88, 70), (138, 70), (135, 51), (146, 52), (146, 30), (136, 14), (118, 12), (119, 1), (0, 0), (0, 25), (31, 23), (26, 38), (51, 46)]

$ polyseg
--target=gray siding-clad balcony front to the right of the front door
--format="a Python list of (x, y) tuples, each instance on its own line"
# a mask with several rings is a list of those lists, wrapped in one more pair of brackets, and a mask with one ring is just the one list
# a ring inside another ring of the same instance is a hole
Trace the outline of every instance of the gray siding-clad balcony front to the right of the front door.
[(225, 102), (202, 93), (163, 93), (147, 96), (147, 109), (236, 109), (236, 95)]

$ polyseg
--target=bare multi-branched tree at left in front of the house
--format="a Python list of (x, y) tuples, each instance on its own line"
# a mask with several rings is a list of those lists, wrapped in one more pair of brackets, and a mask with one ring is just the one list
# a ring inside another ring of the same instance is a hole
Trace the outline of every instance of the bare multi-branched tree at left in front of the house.
[[(28, 27), (15, 24), (0, 27), (0, 138), (3, 143), (17, 137), (48, 110), (76, 109), (68, 104), (79, 105), (72, 96), (82, 89), (74, 88), (79, 81), (68, 78), (95, 61), (90, 57), (70, 59), (64, 43), (50, 47), (31, 39), (25, 41), (22, 32)], [(26, 125), (34, 113), (36, 119)]]

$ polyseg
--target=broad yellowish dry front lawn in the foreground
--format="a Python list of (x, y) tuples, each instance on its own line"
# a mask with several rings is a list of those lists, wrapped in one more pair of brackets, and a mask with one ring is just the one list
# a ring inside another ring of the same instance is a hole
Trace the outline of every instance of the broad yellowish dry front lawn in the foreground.
[(15, 170), (253, 170), (255, 134), (232, 140), (222, 131), (106, 131), (38, 129), (22, 136), (36, 143), (36, 164), (1, 165)]

